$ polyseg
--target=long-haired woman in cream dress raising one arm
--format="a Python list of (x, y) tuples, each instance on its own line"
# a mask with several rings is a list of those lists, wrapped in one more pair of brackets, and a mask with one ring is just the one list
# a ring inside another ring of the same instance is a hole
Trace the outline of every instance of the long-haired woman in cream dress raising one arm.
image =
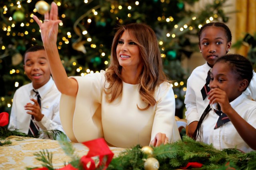
[(56, 45), (58, 7), (52, 2), (44, 23), (34, 16), (52, 76), (62, 93), (60, 118), (71, 141), (103, 137), (109, 146), (159, 146), (180, 139), (175, 99), (162, 68), (154, 31), (146, 24), (121, 26), (112, 43), (107, 71), (67, 76)]

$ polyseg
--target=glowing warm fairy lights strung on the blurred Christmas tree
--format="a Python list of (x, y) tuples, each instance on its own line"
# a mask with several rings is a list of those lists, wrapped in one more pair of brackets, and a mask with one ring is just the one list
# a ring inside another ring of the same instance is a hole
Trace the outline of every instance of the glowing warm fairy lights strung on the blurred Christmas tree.
[[(166, 3), (166, 4), (169, 4), (169, 3), (170, 3), (170, 0), (160, 0), (160, 1), (161, 1), (162, 3)], [(27, 1), (26, 1), (26, 3), (28, 3), (28, 4), (31, 3), (31, 2), (32, 2), (32, 0), (27, 0)], [(8, 12), (10, 11), (9, 8), (11, 8), (11, 7), (15, 7), (15, 6), (16, 6), (17, 9), (22, 9), (22, 3), (24, 3), (24, 1), (18, 0), (18, 1), (16, 2), (16, 4), (11, 3), (11, 4), (9, 4), (9, 6), (4, 5), (4, 6), (3, 6), (3, 9), (4, 9), (3, 15), (4, 15), (4, 16), (7, 16)], [(87, 3), (88, 3), (88, 0), (84, 0), (84, 3), (87, 4)], [(219, 3), (219, 0), (216, 0), (215, 3)], [(56, 2), (56, 4), (57, 4), (58, 6), (64, 5), (66, 8), (68, 8), (68, 5), (67, 5), (67, 4), (61, 4), (61, 2)], [(110, 6), (110, 9), (109, 9), (109, 10), (110, 10), (110, 13), (118, 14), (118, 12), (119, 12), (120, 10), (122, 10), (123, 8), (127, 8), (128, 10), (132, 10), (132, 8), (133, 8), (132, 6), (134, 6), (134, 5), (135, 5), (135, 6), (139, 6), (139, 5), (140, 5), (140, 2), (139, 2), (139, 1), (136, 1), (136, 2), (134, 2), (134, 4), (124, 4), (123, 6), (122, 6), (122, 5), (118, 5), (118, 4), (112, 4), (112, 5)], [(17, 12), (17, 10), (16, 10), (16, 12)], [(34, 10), (33, 10), (30, 14), (22, 14), (22, 13), (20, 13), (20, 14), (18, 15), (18, 19), (17, 19), (17, 16), (15, 17), (16, 20), (19, 20), (19, 19), (22, 20), (22, 17), (30, 18), (28, 22), (16, 22), (16, 21), (14, 20), (14, 15), (13, 15), (13, 16), (10, 16), (10, 17), (8, 18), (8, 20), (10, 21), (10, 22), (9, 22), (10, 24), (9, 24), (9, 25), (3, 24), (2, 30), (3, 30), (4, 32), (6, 32), (6, 35), (7, 35), (7, 36), (13, 36), (13, 37), (15, 37), (15, 36), (24, 37), (24, 36), (26, 36), (26, 35), (29, 35), (29, 34), (30, 34), (30, 31), (31, 31), (31, 32), (40, 31), (40, 30), (36, 30), (36, 29), (34, 29), (34, 28), (33, 28), (33, 29), (30, 29), (30, 27), (29, 27), (30, 24), (34, 22), (34, 20), (33, 20), (33, 15), (34, 15), (36, 12), (38, 12), (38, 10), (37, 10), (36, 8), (34, 8)], [(97, 12), (97, 10), (95, 10), (95, 9), (92, 9), (91, 12), (92, 12), (95, 16), (97, 16), (97, 15), (99, 14), (99, 12)], [(24, 15), (24, 16), (23, 16), (23, 15)], [(66, 17), (65, 14), (60, 14), (60, 18), (65, 18), (65, 17)], [(132, 17), (132, 13), (128, 13), (128, 14), (127, 14), (127, 17)], [(217, 14), (214, 14), (214, 16), (211, 16), (208, 20), (206, 20), (206, 23), (210, 23), (211, 21), (213, 21), (213, 20), (216, 19), (216, 18), (218, 18), (218, 15), (217, 15)], [(196, 16), (192, 16), (192, 20), (196, 20), (196, 19), (197, 19)], [(122, 18), (116, 17), (116, 20), (118, 20), (119, 23), (123, 23)], [(173, 18), (172, 16), (168, 16), (168, 17), (166, 17), (166, 16), (158, 16), (157, 20), (158, 20), (158, 21), (166, 21), (166, 23), (168, 23), (168, 22), (174, 21), (175, 18)], [(90, 24), (90, 23), (92, 22), (92, 19), (91, 19), (91, 18), (88, 18), (88, 19), (87, 19), (87, 22), (88, 22), (88, 24)], [(63, 26), (63, 23), (60, 22), (59, 25), (60, 25), (60, 27), (62, 27), (62, 26)], [(24, 32), (15, 32), (15, 31), (12, 31), (12, 28), (14, 28), (14, 27), (26, 27), (27, 30), (24, 31)], [(198, 28), (200, 28), (200, 27), (202, 27), (202, 24), (199, 24), (199, 25), (198, 25)], [(187, 29), (189, 29), (190, 31), (193, 30), (193, 27), (190, 26), (190, 25), (187, 25), (187, 24), (184, 24), (184, 25), (177, 25), (177, 24), (176, 24), (176, 25), (174, 25), (174, 28), (175, 28), (175, 29), (178, 29), (179, 31), (184, 31), (184, 30), (187, 30)], [(59, 29), (59, 32), (61, 32), (61, 29)], [(96, 47), (97, 47), (97, 45), (96, 45), (95, 43), (93, 43), (94, 41), (93, 41), (92, 37), (90, 37), (90, 34), (88, 33), (88, 31), (87, 31), (86, 29), (82, 30), (82, 35), (84, 35), (84, 36), (86, 37), (87, 43), (91, 43), (91, 44), (90, 44), (90, 47), (91, 47), (91, 48), (96, 48)], [(65, 43), (65, 44), (70, 43), (71, 37), (72, 37), (72, 33), (71, 33), (71, 32), (67, 32), (67, 33), (66, 33), (66, 36), (63, 36), (63, 37), (62, 37), (62, 39), (61, 39), (62, 41), (57, 42), (57, 43), (58, 43), (58, 49), (61, 49), (61, 48), (62, 48), (62, 45), (63, 45), (64, 43)], [(175, 38), (175, 37), (176, 37), (176, 33), (168, 32), (168, 33), (166, 33), (166, 37), (167, 37), (167, 38)], [(34, 37), (32, 37), (31, 39), (32, 39), (32, 41), (36, 41), (36, 38), (34, 38)], [(161, 54), (161, 57), (164, 58), (164, 57), (166, 57), (166, 54), (164, 54), (165, 48), (163, 47), (163, 45), (164, 45), (164, 41), (159, 40), (159, 47), (160, 47), (161, 51), (163, 51), (163, 53)], [(103, 47), (103, 45), (100, 44), (99, 47)], [(4, 51), (5, 49), (6, 49), (6, 47), (5, 47), (4, 45), (2, 45), (2, 47), (0, 47), (0, 50), (3, 50), (3, 51)], [(110, 59), (110, 55), (107, 56), (106, 53), (105, 53), (104, 51), (102, 51), (102, 49), (100, 49), (99, 52), (100, 52), (100, 57), (101, 57), (101, 58), (104, 58), (104, 57), (105, 57), (105, 58), (108, 59), (108, 60), (105, 60), (105, 61), (104, 61), (104, 64), (108, 65), (109, 59)], [(2, 62), (2, 61), (1, 61), (1, 59), (0, 59), (0, 63), (1, 63), (1, 62)], [(64, 64), (64, 63), (65, 63), (65, 61), (62, 60), (62, 64)], [(76, 68), (77, 65), (78, 65), (78, 64), (76, 63), (76, 61), (74, 61), (74, 62), (72, 63), (72, 66), (74, 66), (74, 68)], [(83, 71), (83, 70), (84, 70), (84, 71)], [(86, 74), (94, 73), (94, 71), (93, 71), (93, 70), (90, 70), (90, 68), (82, 68), (82, 66), (78, 66), (78, 67), (76, 68), (76, 72), (78, 72), (81, 76), (85, 76)], [(96, 72), (99, 72), (99, 71), (96, 71)], [(14, 73), (16, 73), (16, 74), (18, 74), (18, 73), (23, 73), (23, 74), (24, 74), (24, 71), (20, 72), (20, 70), (11, 69), (11, 70), (10, 70), (10, 74), (14, 74)], [(18, 88), (18, 87), (19, 87), (19, 83), (18, 83), (18, 82), (15, 82), (15, 83), (14, 83), (14, 86), (15, 86), (16, 88)], [(172, 86), (173, 86), (173, 87), (182, 87), (182, 86), (184, 86), (184, 82), (183, 82), (183, 81), (181, 81), (181, 82), (174, 82), (174, 83), (172, 84)], [(182, 90), (183, 90), (184, 92), (186, 92), (186, 87), (184, 86), (184, 87), (182, 88)], [(177, 94), (175, 94), (175, 98), (178, 98), (178, 95), (177, 95)], [(1, 101), (3, 102), (4, 100), (5, 100), (5, 98), (4, 98), (4, 97), (1, 97)], [(12, 100), (11, 100), (11, 102), (12, 102)], [(6, 103), (6, 106), (7, 106), (7, 107), (11, 107), (11, 103), (10, 103), (10, 102), (7, 102), (7, 103)]]

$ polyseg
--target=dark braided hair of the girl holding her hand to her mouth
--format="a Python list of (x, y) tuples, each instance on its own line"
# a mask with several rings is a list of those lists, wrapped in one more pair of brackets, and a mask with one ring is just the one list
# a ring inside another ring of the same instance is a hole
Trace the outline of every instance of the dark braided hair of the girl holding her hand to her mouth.
[[(253, 68), (252, 68), (252, 64), (248, 59), (246, 59), (245, 57), (239, 54), (228, 54), (228, 55), (224, 55), (223, 57), (220, 57), (216, 61), (216, 63), (228, 63), (230, 65), (231, 71), (235, 73), (234, 75), (236, 75), (236, 78), (238, 80), (243, 80), (243, 79), (248, 80), (247, 87), (249, 86), (253, 76)], [(246, 90), (246, 88), (244, 90)], [(192, 136), (193, 139), (196, 140), (198, 136), (200, 137), (202, 122), (204, 121), (204, 118), (210, 112), (210, 110), (212, 109), (210, 108), (210, 104), (209, 104), (204, 110), (204, 113), (202, 114), (202, 116), (198, 121), (196, 131)]]

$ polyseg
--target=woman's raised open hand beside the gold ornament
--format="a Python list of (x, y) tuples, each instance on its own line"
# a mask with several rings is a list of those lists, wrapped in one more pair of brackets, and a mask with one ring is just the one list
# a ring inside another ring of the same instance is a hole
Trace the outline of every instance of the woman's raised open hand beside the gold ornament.
[(33, 16), (36, 23), (41, 29), (41, 37), (44, 43), (44, 47), (51, 46), (52, 43), (57, 42), (58, 24), (61, 20), (58, 20), (58, 6), (55, 2), (51, 4), (50, 14), (46, 12), (44, 14), (44, 22), (42, 23), (37, 16)]

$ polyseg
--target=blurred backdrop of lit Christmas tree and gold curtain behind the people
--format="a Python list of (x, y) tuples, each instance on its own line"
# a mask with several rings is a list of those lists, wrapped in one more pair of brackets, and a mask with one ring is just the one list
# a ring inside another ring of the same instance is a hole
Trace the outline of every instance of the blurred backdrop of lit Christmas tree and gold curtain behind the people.
[[(0, 2), (0, 112), (10, 113), (16, 89), (30, 80), (24, 74), (23, 55), (42, 45), (32, 16), (44, 20), (52, 0)], [(176, 115), (184, 117), (186, 80), (205, 63), (197, 32), (208, 22), (226, 23), (232, 32), (230, 53), (250, 59), (256, 68), (256, 0), (54, 0), (58, 5), (58, 49), (68, 76), (107, 68), (115, 28), (147, 23), (158, 37), (164, 72), (174, 80)]]

